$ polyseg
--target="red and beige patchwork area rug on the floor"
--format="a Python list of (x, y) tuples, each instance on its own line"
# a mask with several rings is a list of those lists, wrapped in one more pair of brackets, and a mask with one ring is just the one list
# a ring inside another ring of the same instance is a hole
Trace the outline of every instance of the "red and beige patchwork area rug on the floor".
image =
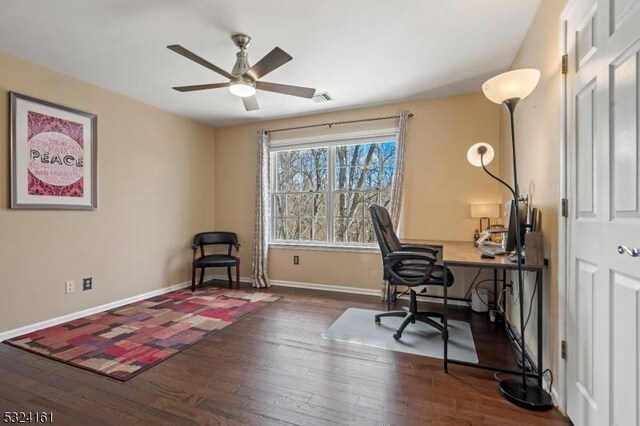
[(124, 381), (279, 298), (219, 288), (178, 290), (5, 343)]

